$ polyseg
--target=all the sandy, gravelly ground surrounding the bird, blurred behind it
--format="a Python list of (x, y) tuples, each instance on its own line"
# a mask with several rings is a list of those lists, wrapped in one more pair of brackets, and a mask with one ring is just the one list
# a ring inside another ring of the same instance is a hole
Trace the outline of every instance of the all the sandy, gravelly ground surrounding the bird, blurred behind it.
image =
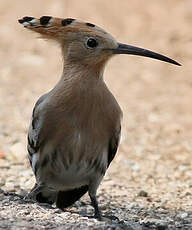
[[(98, 196), (119, 221), (87, 218), (86, 196), (66, 212), (22, 200), (34, 183), (26, 158), (32, 108), (62, 71), (58, 47), (17, 23), (25, 15), (92, 22), (183, 64), (121, 55), (106, 68), (124, 120)], [(0, 229), (192, 229), (192, 1), (1, 0), (0, 22)]]

